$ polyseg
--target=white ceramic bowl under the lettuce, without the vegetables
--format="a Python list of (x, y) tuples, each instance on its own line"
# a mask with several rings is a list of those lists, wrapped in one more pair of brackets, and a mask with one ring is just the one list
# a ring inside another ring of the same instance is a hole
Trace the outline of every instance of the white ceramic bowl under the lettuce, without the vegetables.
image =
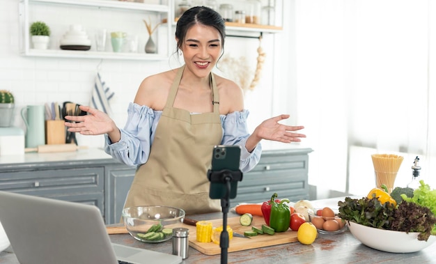
[(373, 228), (347, 221), (352, 235), (362, 244), (373, 249), (391, 253), (411, 253), (425, 249), (436, 241), (436, 235), (430, 235), (427, 241), (418, 240), (416, 232), (400, 232)]

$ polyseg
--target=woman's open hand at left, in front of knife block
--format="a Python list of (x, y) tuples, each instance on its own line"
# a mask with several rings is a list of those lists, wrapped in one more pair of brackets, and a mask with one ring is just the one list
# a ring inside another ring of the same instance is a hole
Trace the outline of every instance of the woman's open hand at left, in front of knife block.
[(66, 120), (71, 121), (65, 122), (68, 132), (85, 135), (108, 134), (112, 142), (120, 140), (120, 130), (107, 114), (84, 105), (81, 105), (80, 109), (88, 114), (86, 116), (65, 116)]

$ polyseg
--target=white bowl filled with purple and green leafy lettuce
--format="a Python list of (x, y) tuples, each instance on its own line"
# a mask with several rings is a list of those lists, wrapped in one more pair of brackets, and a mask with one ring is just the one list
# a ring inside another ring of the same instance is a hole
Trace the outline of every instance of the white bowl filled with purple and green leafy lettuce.
[[(371, 194), (371, 192), (370, 192)], [(436, 241), (436, 189), (423, 183), (412, 197), (396, 203), (375, 196), (339, 201), (339, 213), (352, 235), (373, 249), (392, 253), (420, 251)]]

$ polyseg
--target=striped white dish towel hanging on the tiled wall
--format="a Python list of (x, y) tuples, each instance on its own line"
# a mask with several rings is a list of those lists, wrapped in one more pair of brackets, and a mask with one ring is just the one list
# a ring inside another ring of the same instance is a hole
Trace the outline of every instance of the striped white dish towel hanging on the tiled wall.
[(112, 93), (110, 88), (106, 86), (106, 83), (102, 81), (100, 73), (97, 73), (91, 98), (91, 106), (95, 109), (103, 111), (108, 116), (112, 116), (109, 100), (111, 100), (113, 97), (114, 93)]

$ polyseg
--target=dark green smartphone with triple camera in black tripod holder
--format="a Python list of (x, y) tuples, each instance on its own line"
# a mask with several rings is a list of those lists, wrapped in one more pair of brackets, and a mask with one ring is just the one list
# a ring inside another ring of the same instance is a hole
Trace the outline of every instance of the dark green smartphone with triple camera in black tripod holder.
[[(241, 157), (240, 146), (214, 146), (212, 151), (212, 166), (210, 172), (214, 171), (240, 171), (239, 162)], [(217, 178), (212, 178), (212, 175), (208, 173), (208, 178), (210, 180), (210, 199), (221, 199), (225, 198), (227, 187), (226, 183), (221, 183), (217, 181)], [(242, 180), (242, 174), (240, 177)], [(231, 182), (231, 192), (230, 199), (235, 199), (238, 190), (238, 180), (232, 180)]]

